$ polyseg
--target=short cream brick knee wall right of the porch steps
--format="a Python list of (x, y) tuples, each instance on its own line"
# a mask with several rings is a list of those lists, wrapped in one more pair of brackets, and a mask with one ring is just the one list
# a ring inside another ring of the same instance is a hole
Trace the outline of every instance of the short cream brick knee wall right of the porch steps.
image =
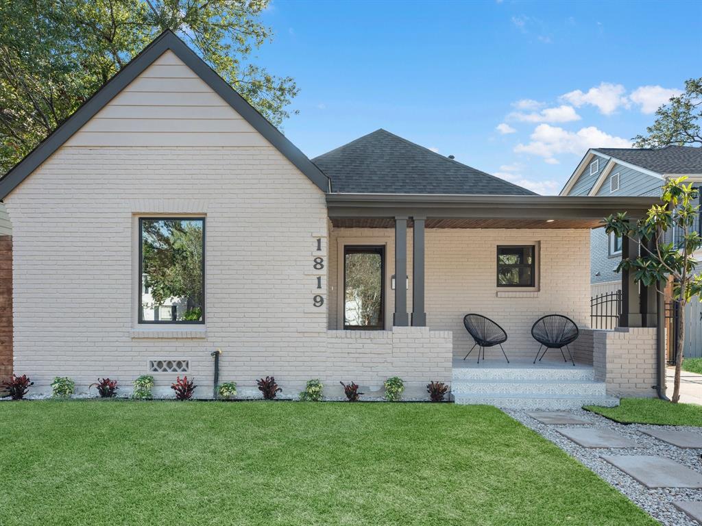
[(593, 332), (595, 379), (611, 396), (656, 396), (656, 329), (618, 328)]

